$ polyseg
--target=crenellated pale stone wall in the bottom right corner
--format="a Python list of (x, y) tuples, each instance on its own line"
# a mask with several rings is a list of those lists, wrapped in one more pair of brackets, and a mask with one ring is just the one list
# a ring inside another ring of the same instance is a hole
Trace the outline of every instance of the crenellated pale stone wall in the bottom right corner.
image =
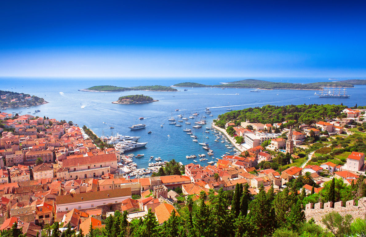
[(366, 213), (366, 197), (360, 198), (358, 200), (358, 205), (355, 204), (355, 200), (346, 201), (346, 206), (344, 206), (343, 201), (334, 204), (333, 202), (308, 203), (305, 205), (305, 216), (306, 219), (314, 218), (315, 222), (320, 222), (322, 216), (329, 212), (336, 211), (342, 216), (350, 214), (353, 218), (364, 218)]

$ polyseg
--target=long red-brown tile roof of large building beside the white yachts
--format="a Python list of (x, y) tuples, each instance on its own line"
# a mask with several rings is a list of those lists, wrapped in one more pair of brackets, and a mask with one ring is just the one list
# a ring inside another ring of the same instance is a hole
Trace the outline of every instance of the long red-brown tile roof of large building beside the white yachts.
[(73, 167), (77, 165), (88, 165), (88, 164), (104, 163), (109, 161), (117, 162), (117, 156), (115, 153), (64, 159), (62, 160), (62, 167)]

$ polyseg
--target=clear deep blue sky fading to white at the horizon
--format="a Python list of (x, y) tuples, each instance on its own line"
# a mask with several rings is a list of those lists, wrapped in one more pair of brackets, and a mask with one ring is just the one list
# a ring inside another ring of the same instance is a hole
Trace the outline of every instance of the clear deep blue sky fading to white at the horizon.
[(365, 77), (365, 29), (364, 1), (1, 1), (0, 76)]

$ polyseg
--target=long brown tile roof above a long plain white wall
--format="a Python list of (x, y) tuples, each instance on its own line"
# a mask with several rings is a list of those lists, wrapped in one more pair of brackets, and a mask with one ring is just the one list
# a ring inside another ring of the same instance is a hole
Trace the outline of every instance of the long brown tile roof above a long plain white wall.
[(131, 196), (131, 188), (113, 189), (89, 193), (75, 193), (56, 197), (56, 204), (75, 203), (80, 201), (99, 200), (112, 197)]

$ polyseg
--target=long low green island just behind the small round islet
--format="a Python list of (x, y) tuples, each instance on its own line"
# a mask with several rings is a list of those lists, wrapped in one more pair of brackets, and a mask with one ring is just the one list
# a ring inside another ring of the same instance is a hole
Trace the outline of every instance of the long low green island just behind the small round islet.
[(121, 92), (121, 91), (178, 91), (164, 85), (140, 85), (137, 87), (116, 87), (114, 85), (96, 85), (79, 91), (87, 92)]

